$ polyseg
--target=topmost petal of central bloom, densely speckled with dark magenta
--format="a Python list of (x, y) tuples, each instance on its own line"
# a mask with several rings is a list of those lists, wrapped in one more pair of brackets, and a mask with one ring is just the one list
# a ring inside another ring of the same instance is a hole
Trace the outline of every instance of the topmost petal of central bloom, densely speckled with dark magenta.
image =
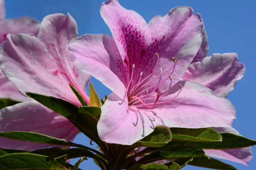
[(151, 32), (143, 17), (123, 8), (116, 0), (102, 4), (100, 13), (113, 34), (122, 59), (129, 62), (130, 72), (135, 64), (134, 79), (140, 76), (141, 71), (145, 75), (151, 74), (145, 67), (156, 51), (148, 51), (152, 41)]

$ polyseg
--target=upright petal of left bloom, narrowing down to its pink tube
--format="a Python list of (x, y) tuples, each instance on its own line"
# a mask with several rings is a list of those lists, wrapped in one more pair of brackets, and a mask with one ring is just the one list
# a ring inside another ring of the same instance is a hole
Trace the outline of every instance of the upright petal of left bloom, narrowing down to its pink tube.
[(78, 68), (76, 57), (67, 53), (70, 42), (77, 37), (77, 25), (74, 18), (67, 14), (52, 14), (44, 17), (38, 33), (38, 39), (44, 42), (48, 53), (58, 65), (58, 73), (63, 74), (68, 82), (72, 84), (89, 103), (89, 97), (80, 88), (76, 81), (74, 71)]

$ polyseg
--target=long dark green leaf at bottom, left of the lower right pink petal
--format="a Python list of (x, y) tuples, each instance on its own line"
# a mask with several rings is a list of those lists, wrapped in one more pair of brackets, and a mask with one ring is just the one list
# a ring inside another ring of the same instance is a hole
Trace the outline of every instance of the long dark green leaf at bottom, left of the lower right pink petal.
[(208, 157), (204, 150), (197, 147), (173, 147), (168, 150), (160, 150), (150, 153), (143, 157), (137, 163), (147, 164), (153, 161), (159, 161), (163, 159), (175, 159), (175, 158), (190, 158), (190, 157)]

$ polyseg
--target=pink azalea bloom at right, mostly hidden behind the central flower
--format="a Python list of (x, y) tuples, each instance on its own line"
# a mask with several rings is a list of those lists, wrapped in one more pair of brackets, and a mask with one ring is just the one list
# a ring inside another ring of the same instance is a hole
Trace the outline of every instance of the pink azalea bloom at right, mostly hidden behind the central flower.
[[(183, 80), (197, 82), (210, 88), (216, 96), (227, 97), (236, 83), (244, 76), (244, 65), (239, 62), (235, 53), (212, 54), (208, 56), (207, 34), (203, 33), (202, 45), (183, 74)], [(218, 132), (229, 132), (239, 135), (232, 127), (215, 128)], [(251, 147), (227, 150), (205, 150), (207, 155), (248, 165), (252, 159)]]

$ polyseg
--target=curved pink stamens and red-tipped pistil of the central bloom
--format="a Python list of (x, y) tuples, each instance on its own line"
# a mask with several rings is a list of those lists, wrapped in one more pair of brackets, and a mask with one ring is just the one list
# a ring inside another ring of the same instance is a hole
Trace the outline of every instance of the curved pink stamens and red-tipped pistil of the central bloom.
[[(153, 74), (157, 70), (157, 65), (159, 62), (159, 56), (157, 53), (156, 53), (156, 57), (157, 57), (157, 62), (156, 62), (153, 72), (151, 74), (149, 74), (147, 77), (145, 77), (144, 79), (142, 79), (143, 72), (140, 72), (140, 78), (135, 85), (134, 85), (134, 81), (133, 81), (135, 65), (134, 64), (132, 65), (131, 79), (127, 86), (127, 89), (128, 89), (127, 96), (128, 96), (128, 100), (129, 100), (129, 106), (134, 106), (137, 108), (140, 108), (143, 106), (145, 106), (146, 108), (153, 108), (157, 104), (172, 101), (180, 94), (182, 85), (180, 85), (180, 91), (174, 98), (163, 101), (163, 102), (158, 102), (158, 99), (160, 97), (166, 96), (168, 94), (168, 92), (170, 91), (170, 89), (172, 88), (172, 74), (175, 71), (175, 67), (177, 64), (177, 57), (172, 58), (174, 65), (168, 71), (163, 73), (162, 68), (159, 68), (160, 75), (156, 78), (152, 78), (148, 82), (145, 82), (148, 78), (153, 76)], [(171, 73), (168, 74), (169, 72), (171, 72)], [(163, 77), (166, 77), (166, 78), (162, 80)], [(156, 81), (157, 79), (158, 79), (158, 81)], [(160, 94), (155, 94), (154, 92), (156, 92), (159, 85), (166, 82), (168, 79), (170, 80), (169, 88), (166, 91), (161, 92)], [(156, 84), (149, 86), (149, 83), (152, 84), (152, 82), (154, 82), (154, 81), (156, 81)], [(150, 92), (148, 92), (148, 90), (150, 90)], [(152, 101), (154, 101), (154, 102), (152, 102)]]

